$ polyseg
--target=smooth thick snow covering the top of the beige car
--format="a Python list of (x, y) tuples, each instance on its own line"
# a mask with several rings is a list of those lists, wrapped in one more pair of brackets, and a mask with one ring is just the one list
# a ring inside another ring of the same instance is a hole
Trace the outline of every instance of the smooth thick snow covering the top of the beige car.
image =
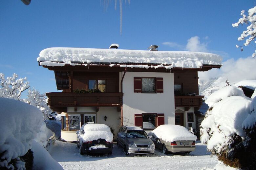
[(188, 131), (186, 127), (179, 125), (160, 125), (152, 131), (156, 136), (166, 142), (173, 141), (196, 141), (196, 135)]

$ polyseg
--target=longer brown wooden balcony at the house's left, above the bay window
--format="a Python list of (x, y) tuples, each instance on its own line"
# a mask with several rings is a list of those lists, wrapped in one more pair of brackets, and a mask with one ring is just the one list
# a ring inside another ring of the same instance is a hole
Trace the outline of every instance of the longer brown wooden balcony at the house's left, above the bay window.
[[(67, 107), (117, 107), (122, 106), (123, 93), (46, 93), (48, 105), (54, 111), (67, 111)], [(96, 109), (97, 110), (97, 109)]]

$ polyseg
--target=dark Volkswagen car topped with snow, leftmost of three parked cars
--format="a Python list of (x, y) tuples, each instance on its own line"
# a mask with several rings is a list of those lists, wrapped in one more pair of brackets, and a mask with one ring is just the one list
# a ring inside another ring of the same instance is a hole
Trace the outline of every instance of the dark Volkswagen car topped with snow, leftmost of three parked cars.
[(113, 134), (110, 128), (104, 124), (84, 124), (77, 134), (77, 147), (80, 154), (112, 154)]

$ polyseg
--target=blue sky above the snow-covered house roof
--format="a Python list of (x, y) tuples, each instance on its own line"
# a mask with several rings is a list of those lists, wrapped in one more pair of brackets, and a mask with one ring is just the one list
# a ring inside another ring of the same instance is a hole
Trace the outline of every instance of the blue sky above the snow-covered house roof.
[[(101, 2), (101, 3), (100, 3)], [(146, 50), (151, 44), (162, 51), (196, 50), (216, 53), (224, 61), (251, 56), (254, 47), (241, 52), (235, 47), (246, 25), (232, 27), (241, 10), (255, 1), (151, 1), (128, 0), (122, 5), (120, 35), (119, 0), (110, 1), (104, 12), (102, 1), (4, 0), (0, 5), (0, 72), (27, 76), (41, 93), (56, 90), (53, 71), (38, 66), (36, 58), (48, 47)]]

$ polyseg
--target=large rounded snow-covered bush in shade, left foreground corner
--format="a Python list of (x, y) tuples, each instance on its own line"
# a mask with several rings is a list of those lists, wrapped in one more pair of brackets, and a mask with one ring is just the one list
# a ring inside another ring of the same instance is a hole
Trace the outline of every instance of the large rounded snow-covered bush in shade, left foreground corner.
[[(0, 169), (25, 169), (22, 158), (42, 125), (41, 111), (22, 101), (0, 97)], [(29, 167), (28, 167), (29, 169)]]

